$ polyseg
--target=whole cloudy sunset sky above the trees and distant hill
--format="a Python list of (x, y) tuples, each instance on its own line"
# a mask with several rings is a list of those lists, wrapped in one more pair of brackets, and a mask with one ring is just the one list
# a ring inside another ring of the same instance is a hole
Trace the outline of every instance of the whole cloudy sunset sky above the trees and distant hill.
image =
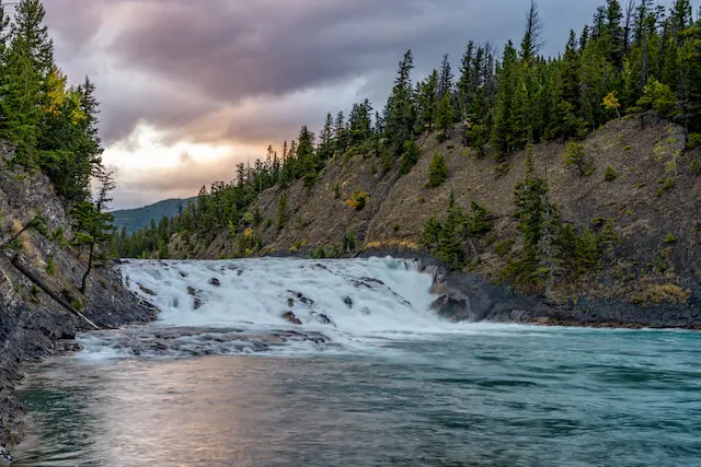
[[(539, 0), (558, 55), (605, 0)], [(664, 3), (664, 2), (663, 2)], [(696, 0), (699, 8), (701, 0)], [(384, 105), (409, 48), (413, 78), (469, 40), (520, 42), (529, 0), (44, 0), (56, 60), (95, 82), (113, 208), (189, 197), (238, 162), (318, 131), (327, 112)]]

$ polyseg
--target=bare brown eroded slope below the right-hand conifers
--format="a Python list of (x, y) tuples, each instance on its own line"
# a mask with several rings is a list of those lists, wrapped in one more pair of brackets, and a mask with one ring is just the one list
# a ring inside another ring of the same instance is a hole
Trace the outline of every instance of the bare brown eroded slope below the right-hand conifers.
[[(353, 233), (364, 250), (421, 250), (425, 222), (432, 215), (445, 218), (453, 192), (466, 211), (475, 201), (494, 212), (495, 227), (475, 243), (470, 272), (487, 282), (497, 281), (520, 246), (513, 194), (524, 178), (526, 154), (512, 154), (498, 166), (493, 156), (480, 159), (462, 147), (460, 132), (456, 128), (441, 143), (435, 135), (423, 137), (418, 163), (404, 176), (399, 176), (397, 167), (380, 173), (380, 160), (374, 155), (334, 159), (313, 187), (308, 189), (300, 180), (287, 190), (289, 222), (279, 231), (275, 224), (280, 192), (264, 191), (257, 207), (271, 221), (264, 221), (256, 233), (262, 235), (266, 252), (304, 253), (318, 247), (329, 252), (332, 246), (340, 247), (344, 232)], [(701, 152), (680, 152), (673, 166), (673, 154), (683, 149), (683, 133), (650, 116), (642, 121), (637, 117), (611, 121), (583, 144), (596, 167), (591, 175), (579, 177), (565, 167), (566, 144), (554, 142), (536, 147), (536, 171), (547, 178), (551, 201), (563, 222), (583, 232), (585, 227), (595, 230), (602, 218), (611, 219), (621, 243), (601, 268), (561, 280), (549, 301), (571, 308), (587, 301), (594, 301), (591, 306), (596, 307), (597, 300), (651, 307), (698, 303), (701, 177), (690, 166), (694, 160), (701, 162)], [(436, 151), (446, 156), (450, 176), (438, 188), (426, 188)], [(607, 182), (609, 166), (616, 177)], [(673, 185), (666, 183), (668, 178)], [(355, 191), (369, 196), (360, 211), (344, 202)], [(180, 244), (177, 237), (171, 243), (175, 256), (183, 255)], [(235, 245), (222, 233), (199, 256), (218, 258), (234, 252)], [(687, 318), (686, 325), (694, 319)]]

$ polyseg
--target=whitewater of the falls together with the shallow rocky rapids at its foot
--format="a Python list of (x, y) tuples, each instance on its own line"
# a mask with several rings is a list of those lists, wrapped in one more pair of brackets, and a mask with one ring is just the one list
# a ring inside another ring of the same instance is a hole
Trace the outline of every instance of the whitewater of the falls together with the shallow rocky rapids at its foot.
[[(152, 325), (81, 337), (88, 358), (358, 351), (450, 332), (432, 310), (433, 276), (413, 260), (128, 260), (124, 285), (156, 306)], [(301, 324), (292, 324), (285, 314)], [(289, 316), (289, 315), (288, 315)]]

